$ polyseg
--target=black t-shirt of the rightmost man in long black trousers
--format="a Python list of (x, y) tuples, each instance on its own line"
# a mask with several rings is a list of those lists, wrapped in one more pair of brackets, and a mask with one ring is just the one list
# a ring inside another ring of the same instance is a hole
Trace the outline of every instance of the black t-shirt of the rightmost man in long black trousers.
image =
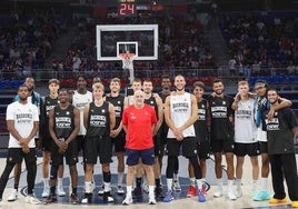
[(290, 108), (277, 110), (272, 120), (262, 115), (262, 128), (267, 131), (268, 153), (295, 153), (292, 128), (298, 127), (297, 117)]

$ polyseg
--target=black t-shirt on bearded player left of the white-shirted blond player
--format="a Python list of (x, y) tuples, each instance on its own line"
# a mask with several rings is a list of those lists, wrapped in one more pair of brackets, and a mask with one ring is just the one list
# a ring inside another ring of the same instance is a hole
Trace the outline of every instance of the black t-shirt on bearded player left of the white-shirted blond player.
[(234, 116), (231, 109), (234, 99), (229, 96), (222, 98), (210, 96), (208, 102), (211, 116), (211, 140), (226, 140), (234, 137), (232, 123), (229, 120), (229, 117)]

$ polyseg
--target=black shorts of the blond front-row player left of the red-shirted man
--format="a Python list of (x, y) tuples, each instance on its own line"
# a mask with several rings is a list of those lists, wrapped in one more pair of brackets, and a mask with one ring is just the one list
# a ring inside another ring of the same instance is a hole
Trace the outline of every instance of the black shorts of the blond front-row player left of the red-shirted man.
[(96, 165), (99, 157), (100, 163), (112, 162), (111, 139), (107, 137), (86, 138), (85, 162)]

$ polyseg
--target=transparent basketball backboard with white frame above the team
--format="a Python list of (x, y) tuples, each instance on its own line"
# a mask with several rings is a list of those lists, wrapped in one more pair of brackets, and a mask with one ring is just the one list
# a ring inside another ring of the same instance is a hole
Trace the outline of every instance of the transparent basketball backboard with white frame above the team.
[(126, 50), (136, 53), (135, 60), (157, 60), (158, 24), (97, 26), (98, 61), (119, 60)]

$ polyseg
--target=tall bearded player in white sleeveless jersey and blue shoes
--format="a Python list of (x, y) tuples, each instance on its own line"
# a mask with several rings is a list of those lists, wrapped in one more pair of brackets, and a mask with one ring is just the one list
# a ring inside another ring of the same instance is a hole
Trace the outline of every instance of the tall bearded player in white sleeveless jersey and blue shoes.
[(169, 126), (168, 131), (168, 166), (167, 166), (167, 187), (168, 192), (163, 198), (165, 202), (173, 200), (172, 178), (175, 160), (179, 156), (180, 146), (182, 153), (191, 162), (198, 186), (199, 202), (206, 201), (201, 193), (201, 169), (198, 160), (197, 140), (193, 123), (198, 118), (197, 99), (193, 94), (186, 92), (185, 77), (178, 74), (175, 77), (176, 91), (171, 92), (166, 99), (165, 119)]

